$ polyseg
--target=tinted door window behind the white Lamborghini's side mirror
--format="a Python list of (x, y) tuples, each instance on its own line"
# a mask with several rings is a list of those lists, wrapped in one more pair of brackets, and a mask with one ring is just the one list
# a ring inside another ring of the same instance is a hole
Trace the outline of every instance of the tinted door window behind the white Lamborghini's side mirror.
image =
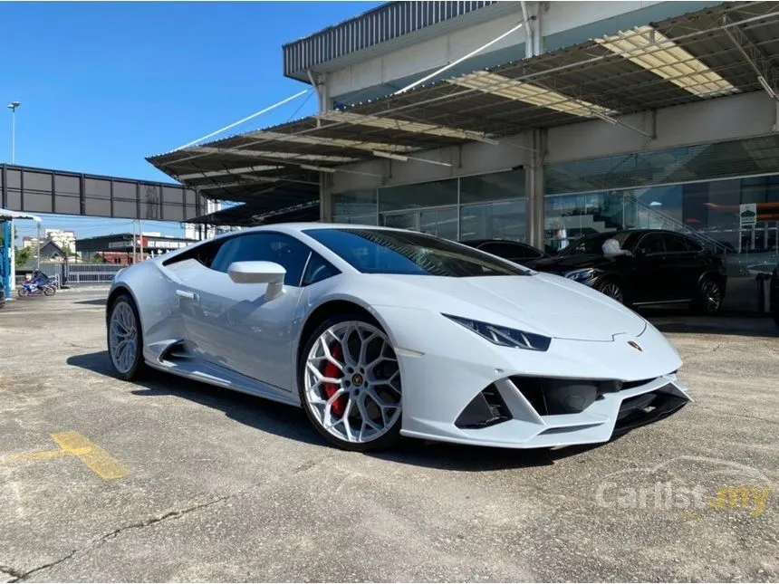
[(289, 235), (257, 233), (230, 238), (216, 254), (211, 269), (227, 273), (234, 262), (274, 262), (286, 270), (284, 285), (300, 286), (311, 249)]

